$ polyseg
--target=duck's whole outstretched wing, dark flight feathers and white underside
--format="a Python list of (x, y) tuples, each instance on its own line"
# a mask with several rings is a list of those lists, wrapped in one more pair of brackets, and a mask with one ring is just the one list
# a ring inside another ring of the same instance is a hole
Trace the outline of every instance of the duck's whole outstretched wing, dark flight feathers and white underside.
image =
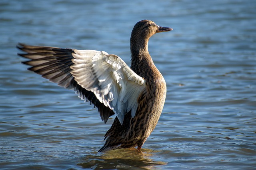
[(142, 77), (132, 71), (120, 57), (104, 51), (62, 49), (56, 47), (17, 46), (30, 59), (28, 68), (51, 82), (73, 89), (85, 101), (90, 101), (106, 123), (116, 114), (120, 123), (131, 110), (135, 116), (138, 96), (146, 90)]

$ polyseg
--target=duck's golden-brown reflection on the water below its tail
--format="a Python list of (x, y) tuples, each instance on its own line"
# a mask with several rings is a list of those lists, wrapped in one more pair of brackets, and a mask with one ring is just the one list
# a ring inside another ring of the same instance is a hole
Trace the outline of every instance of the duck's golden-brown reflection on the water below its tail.
[(82, 168), (93, 170), (110, 169), (156, 169), (156, 166), (166, 165), (166, 162), (154, 161), (150, 159), (154, 150), (142, 149), (117, 149), (106, 153), (97, 153), (81, 158), (77, 165)]

